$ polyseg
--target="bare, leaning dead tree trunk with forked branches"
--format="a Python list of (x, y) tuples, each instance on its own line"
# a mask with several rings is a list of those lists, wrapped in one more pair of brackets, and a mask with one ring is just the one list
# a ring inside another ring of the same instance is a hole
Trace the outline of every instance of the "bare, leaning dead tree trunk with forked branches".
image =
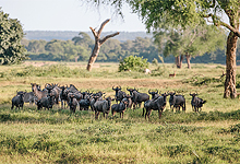
[(100, 28), (98, 30), (98, 32), (96, 32), (93, 27), (89, 27), (91, 31), (93, 32), (94, 34), (94, 37), (95, 37), (95, 46), (94, 46), (94, 49), (92, 51), (92, 55), (89, 57), (89, 60), (88, 60), (88, 65), (86, 67), (86, 70), (87, 71), (91, 71), (92, 70), (92, 67), (94, 65), (94, 62), (96, 61), (97, 59), (97, 56), (99, 54), (99, 50), (100, 50), (100, 46), (110, 37), (115, 37), (116, 35), (119, 35), (119, 32), (115, 33), (115, 34), (111, 34), (111, 35), (107, 35), (105, 36), (103, 39), (100, 39), (100, 33), (103, 32), (103, 28), (104, 26), (110, 21), (110, 19), (106, 20), (105, 22), (101, 23), (100, 25)]

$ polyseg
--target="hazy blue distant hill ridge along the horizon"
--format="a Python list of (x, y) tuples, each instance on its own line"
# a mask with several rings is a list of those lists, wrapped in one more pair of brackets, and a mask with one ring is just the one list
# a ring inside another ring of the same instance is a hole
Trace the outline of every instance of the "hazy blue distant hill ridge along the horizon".
[[(68, 40), (72, 39), (74, 36), (77, 36), (80, 32), (73, 31), (24, 31), (26, 39), (44, 39), (44, 40), (51, 40), (51, 39), (62, 39)], [(94, 36), (92, 32), (84, 32), (87, 33), (93, 39)], [(103, 32), (101, 37), (112, 34), (115, 32)], [(113, 38), (119, 39), (120, 42), (125, 42), (128, 39), (133, 40), (136, 37), (152, 37), (152, 34), (147, 34), (145, 32), (120, 32), (119, 35), (115, 36)]]

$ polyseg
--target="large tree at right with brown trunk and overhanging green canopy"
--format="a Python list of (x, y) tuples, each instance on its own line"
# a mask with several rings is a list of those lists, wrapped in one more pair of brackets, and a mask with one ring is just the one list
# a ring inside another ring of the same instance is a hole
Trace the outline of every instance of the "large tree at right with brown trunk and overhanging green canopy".
[[(97, 4), (110, 4), (122, 14), (124, 2), (137, 13), (147, 31), (169, 27), (185, 27), (199, 24), (203, 19), (216, 26), (230, 31), (226, 50), (226, 80), (224, 97), (237, 97), (236, 90), (236, 49), (240, 37), (240, 3), (238, 0), (88, 0)], [(229, 19), (229, 24), (223, 17)], [(165, 23), (163, 25), (163, 22)]]

